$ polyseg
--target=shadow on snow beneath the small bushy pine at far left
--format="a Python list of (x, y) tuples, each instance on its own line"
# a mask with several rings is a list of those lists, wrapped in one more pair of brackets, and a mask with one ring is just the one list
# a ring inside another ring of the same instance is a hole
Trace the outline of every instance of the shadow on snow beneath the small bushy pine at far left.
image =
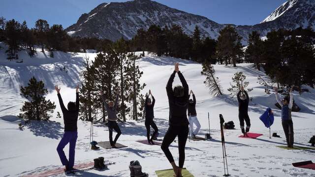
[(28, 128), (35, 136), (42, 136), (51, 139), (59, 139), (63, 137), (63, 127), (59, 122), (50, 120), (31, 120), (24, 126)]

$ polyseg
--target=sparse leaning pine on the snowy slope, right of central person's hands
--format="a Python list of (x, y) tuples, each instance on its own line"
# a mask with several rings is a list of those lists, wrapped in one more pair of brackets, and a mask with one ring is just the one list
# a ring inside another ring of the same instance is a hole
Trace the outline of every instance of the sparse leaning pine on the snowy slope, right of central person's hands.
[(221, 92), (222, 88), (220, 85), (220, 80), (215, 75), (216, 71), (214, 67), (207, 61), (202, 64), (201, 74), (206, 76), (206, 80), (203, 83), (209, 88), (210, 94), (214, 96), (223, 95)]

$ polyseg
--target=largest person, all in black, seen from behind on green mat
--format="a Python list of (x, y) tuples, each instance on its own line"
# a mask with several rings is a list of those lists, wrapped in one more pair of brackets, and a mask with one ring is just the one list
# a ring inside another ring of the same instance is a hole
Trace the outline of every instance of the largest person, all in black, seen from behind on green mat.
[[(185, 146), (189, 133), (189, 121), (186, 116), (189, 103), (189, 88), (183, 74), (179, 71), (178, 66), (179, 64), (175, 63), (175, 70), (171, 74), (166, 85), (169, 104), (169, 127), (164, 136), (161, 149), (166, 155), (168, 161), (171, 163), (175, 175), (177, 177), (182, 177), (182, 168), (185, 162)], [(176, 73), (178, 74), (183, 86), (176, 86), (172, 89)], [(176, 166), (173, 156), (168, 148), (175, 140), (176, 136), (178, 136), (179, 166)]]

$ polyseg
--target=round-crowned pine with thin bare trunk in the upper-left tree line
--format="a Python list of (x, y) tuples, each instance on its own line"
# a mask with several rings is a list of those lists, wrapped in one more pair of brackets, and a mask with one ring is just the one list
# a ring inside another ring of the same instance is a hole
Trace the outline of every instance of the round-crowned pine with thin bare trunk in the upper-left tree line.
[(38, 43), (41, 45), (41, 52), (44, 53), (44, 45), (47, 45), (47, 32), (49, 31), (49, 24), (46, 20), (39, 19), (35, 23), (35, 31)]

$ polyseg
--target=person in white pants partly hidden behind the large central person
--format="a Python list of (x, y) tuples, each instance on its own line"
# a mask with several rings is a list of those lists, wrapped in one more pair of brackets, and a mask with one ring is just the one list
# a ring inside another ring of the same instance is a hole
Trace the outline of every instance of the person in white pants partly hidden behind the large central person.
[[(190, 90), (189, 96), (192, 93), (192, 99), (189, 99), (188, 104), (188, 116), (189, 116), (189, 126), (190, 126), (190, 138), (196, 138), (200, 130), (200, 123), (197, 118), (196, 113), (196, 97), (192, 90)], [(196, 129), (193, 130), (193, 124), (196, 125)]]

